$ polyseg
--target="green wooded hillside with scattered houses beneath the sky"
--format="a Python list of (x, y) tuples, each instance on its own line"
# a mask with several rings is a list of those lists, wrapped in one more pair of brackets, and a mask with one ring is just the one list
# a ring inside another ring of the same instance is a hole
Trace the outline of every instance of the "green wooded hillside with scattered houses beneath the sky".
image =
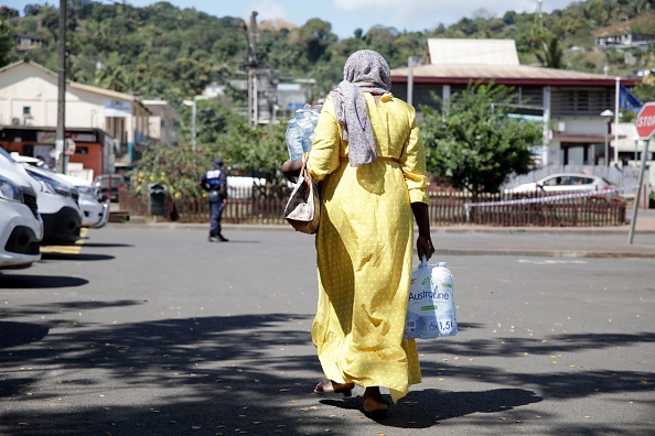
[[(332, 33), (330, 22), (314, 18), (299, 25), (281, 21), (261, 25), (258, 54), (260, 65), (279, 70), (282, 78), (315, 79), (316, 95), (341, 79), (343, 63), (354, 51), (376, 50), (394, 68), (406, 65), (410, 55), (423, 55), (429, 37), (513, 39), (523, 64), (599, 74), (606, 65), (610, 75), (630, 75), (655, 66), (652, 51), (630, 56), (597, 51), (594, 34), (621, 24), (655, 34), (654, 18), (653, 0), (587, 0), (540, 14), (509, 11), (497, 18), (481, 9), (448, 26), (436, 23), (422, 32), (375, 26), (342, 40)], [(0, 62), (26, 56), (57, 69), (58, 9), (47, 3), (29, 4), (23, 11), (1, 7), (0, 19)], [(212, 17), (168, 2), (137, 8), (127, 2), (72, 0), (67, 26), (72, 80), (180, 103), (210, 83), (227, 85), (244, 78), (247, 29), (238, 18)], [(2, 35), (15, 34), (39, 37), (45, 46), (2, 55)], [(244, 98), (236, 91), (232, 97)]]

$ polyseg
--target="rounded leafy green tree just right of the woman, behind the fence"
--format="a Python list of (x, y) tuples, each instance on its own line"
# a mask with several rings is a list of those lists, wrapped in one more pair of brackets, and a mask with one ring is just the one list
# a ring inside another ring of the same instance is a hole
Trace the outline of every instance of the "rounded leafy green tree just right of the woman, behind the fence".
[(449, 102), (432, 98), (443, 113), (422, 106), (421, 137), (428, 171), (450, 177), (474, 200), (481, 193), (497, 193), (513, 175), (533, 168), (530, 149), (541, 140), (541, 126), (511, 118), (513, 88), (472, 84)]

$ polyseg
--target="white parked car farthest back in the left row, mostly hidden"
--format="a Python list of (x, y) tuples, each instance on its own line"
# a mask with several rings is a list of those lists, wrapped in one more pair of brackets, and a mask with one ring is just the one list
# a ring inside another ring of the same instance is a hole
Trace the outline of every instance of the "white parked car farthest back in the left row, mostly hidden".
[(98, 188), (89, 182), (66, 174), (55, 173), (37, 157), (23, 156), (18, 153), (11, 153), (11, 157), (23, 165), (32, 165), (49, 171), (52, 177), (73, 185), (75, 190), (77, 190), (77, 203), (83, 212), (82, 227), (99, 229), (107, 224), (109, 219), (109, 205), (98, 201)]

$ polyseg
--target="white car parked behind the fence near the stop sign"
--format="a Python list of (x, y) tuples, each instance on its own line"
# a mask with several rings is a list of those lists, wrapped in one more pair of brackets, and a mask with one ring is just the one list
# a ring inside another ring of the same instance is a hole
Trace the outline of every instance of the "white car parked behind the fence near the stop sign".
[(558, 173), (551, 174), (534, 183), (524, 183), (507, 193), (514, 194), (529, 194), (536, 192), (545, 193), (561, 193), (561, 192), (579, 192), (579, 190), (603, 190), (615, 187), (612, 182), (606, 178), (582, 173)]

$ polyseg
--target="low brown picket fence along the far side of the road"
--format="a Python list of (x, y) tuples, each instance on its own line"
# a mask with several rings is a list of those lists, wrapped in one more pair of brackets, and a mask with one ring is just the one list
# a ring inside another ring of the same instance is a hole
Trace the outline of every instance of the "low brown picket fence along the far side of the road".
[[(225, 224), (286, 225), (282, 217), (287, 195), (268, 198), (261, 193), (239, 193), (230, 198), (223, 211)], [(135, 216), (149, 216), (148, 199), (124, 192), (119, 208)], [(471, 194), (449, 189), (430, 194), (430, 221), (433, 226), (544, 226), (590, 227), (621, 226), (626, 222), (625, 199), (611, 192), (556, 195), (531, 193), (483, 195), (473, 203)], [(168, 197), (164, 218), (176, 222), (208, 222), (210, 211), (204, 198)]]

